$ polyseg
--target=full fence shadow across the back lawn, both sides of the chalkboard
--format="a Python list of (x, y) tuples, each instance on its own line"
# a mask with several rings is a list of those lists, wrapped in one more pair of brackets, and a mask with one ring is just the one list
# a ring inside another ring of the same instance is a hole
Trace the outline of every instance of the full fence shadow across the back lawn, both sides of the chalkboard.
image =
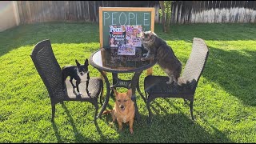
[[(162, 32), (162, 25), (155, 24), (155, 33), (165, 40), (192, 42), (194, 37), (204, 40), (256, 40), (255, 24), (189, 24), (172, 25), (170, 34)], [(16, 26), (0, 32), (0, 56), (20, 46), (34, 46), (50, 39), (51, 43), (98, 42), (98, 23), (46, 22)]]

